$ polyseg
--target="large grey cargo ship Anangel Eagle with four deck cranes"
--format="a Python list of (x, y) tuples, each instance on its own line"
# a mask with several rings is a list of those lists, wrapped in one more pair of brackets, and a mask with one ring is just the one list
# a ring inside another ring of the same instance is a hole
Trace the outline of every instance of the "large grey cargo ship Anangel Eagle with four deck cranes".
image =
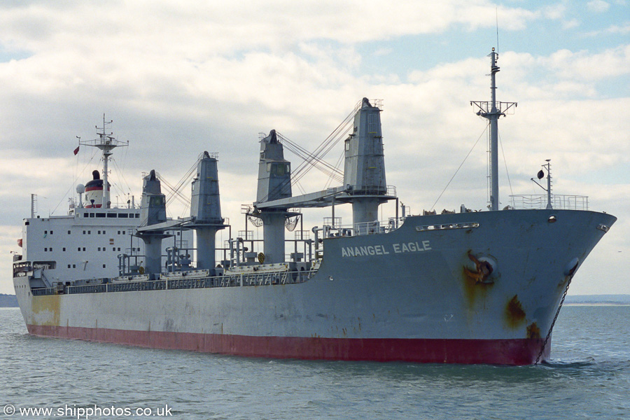
[[(540, 206), (521, 196), (500, 209), (497, 125), (516, 104), (496, 101), (498, 54), (489, 57), (491, 100), (471, 102), (490, 129), (488, 211), (398, 214), (381, 108), (363, 99), (349, 118), (342, 185), (294, 195), (300, 170), (272, 130), (260, 139), (258, 191), (245, 215), (262, 240), (246, 229), (217, 247), (216, 233), (230, 228), (217, 155), (197, 160), (186, 218), (166, 217), (155, 170), (139, 209), (111, 207), (106, 162), (124, 145), (104, 122), (87, 143), (103, 151), (104, 179), (96, 172), (78, 186), (68, 216), (24, 219), (13, 283), (29, 334), (264, 358), (548, 360), (570, 281), (616, 218), (589, 211), (586, 197), (553, 195), (549, 163)], [(306, 155), (309, 165), (318, 160)], [(379, 221), (390, 200), (395, 214)], [(351, 206), (350, 225), (335, 217), (341, 205)], [(323, 207), (331, 217), (321, 227), (287, 239), (304, 209)]]

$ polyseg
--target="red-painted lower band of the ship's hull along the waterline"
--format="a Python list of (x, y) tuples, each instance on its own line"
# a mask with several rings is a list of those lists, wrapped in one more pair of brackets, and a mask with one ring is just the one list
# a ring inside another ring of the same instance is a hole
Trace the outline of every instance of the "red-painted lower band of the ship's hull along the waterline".
[[(27, 325), (31, 335), (264, 358), (531, 365), (541, 339), (252, 337), (196, 332)], [(548, 357), (549, 346), (542, 355)]]

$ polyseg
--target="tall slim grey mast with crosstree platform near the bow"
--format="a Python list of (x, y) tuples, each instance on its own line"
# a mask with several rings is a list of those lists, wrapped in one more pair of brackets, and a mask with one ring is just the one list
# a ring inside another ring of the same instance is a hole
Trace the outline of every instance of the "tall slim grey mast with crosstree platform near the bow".
[(498, 196), (498, 119), (505, 116), (505, 112), (514, 107), (517, 102), (497, 102), (496, 100), (496, 73), (500, 70), (496, 65), (498, 53), (492, 48), (490, 57), (490, 102), (471, 101), (479, 111), (478, 116), (489, 120), (490, 123), (490, 210), (499, 209)]

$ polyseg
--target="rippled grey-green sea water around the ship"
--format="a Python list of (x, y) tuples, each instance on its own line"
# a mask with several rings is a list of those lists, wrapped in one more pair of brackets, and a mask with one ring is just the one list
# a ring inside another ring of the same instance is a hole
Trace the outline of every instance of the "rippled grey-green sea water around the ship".
[(27, 335), (19, 309), (0, 309), (0, 368), (0, 419), (630, 419), (630, 307), (563, 307), (552, 361), (526, 367), (40, 338)]

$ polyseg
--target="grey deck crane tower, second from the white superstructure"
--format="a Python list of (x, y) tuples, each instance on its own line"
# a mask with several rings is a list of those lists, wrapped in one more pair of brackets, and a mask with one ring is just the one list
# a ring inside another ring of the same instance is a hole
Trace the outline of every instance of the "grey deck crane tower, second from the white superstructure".
[(204, 152), (197, 165), (190, 199), (190, 216), (197, 235), (197, 268), (214, 269), (216, 231), (225, 228), (221, 217), (216, 155)]

